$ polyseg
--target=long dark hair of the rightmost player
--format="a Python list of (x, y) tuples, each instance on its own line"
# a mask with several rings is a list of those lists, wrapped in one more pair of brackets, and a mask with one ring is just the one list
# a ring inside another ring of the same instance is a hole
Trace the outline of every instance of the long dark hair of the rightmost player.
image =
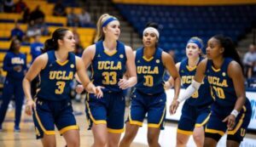
[(224, 57), (230, 57), (236, 60), (236, 62), (241, 65), (241, 71), (243, 71), (243, 65), (241, 64), (241, 59), (237, 53), (236, 46), (230, 37), (224, 37), (223, 35), (214, 36), (218, 40), (221, 47), (224, 48)]

